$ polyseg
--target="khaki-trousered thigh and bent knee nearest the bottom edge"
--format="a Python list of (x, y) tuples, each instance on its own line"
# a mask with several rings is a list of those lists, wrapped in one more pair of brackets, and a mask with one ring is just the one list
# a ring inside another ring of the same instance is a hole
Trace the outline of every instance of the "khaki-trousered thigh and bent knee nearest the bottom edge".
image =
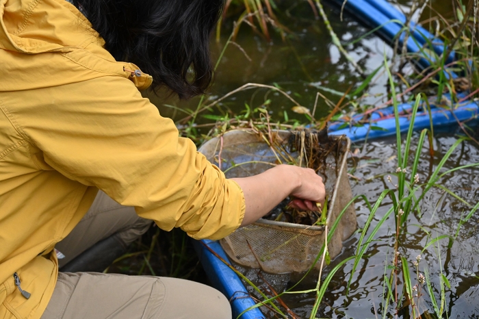
[(218, 290), (167, 277), (62, 273), (42, 319), (231, 319)]

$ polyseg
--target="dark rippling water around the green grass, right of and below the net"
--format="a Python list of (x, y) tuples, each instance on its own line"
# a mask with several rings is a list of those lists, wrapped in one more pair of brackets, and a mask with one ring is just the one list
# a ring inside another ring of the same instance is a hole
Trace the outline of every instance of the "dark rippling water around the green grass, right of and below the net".
[[(422, 183), (430, 177), (435, 166), (456, 140), (450, 134), (437, 136), (433, 140), (434, 157), (430, 157), (429, 145), (426, 142), (418, 168)], [(353, 195), (365, 194), (367, 199), (374, 204), (380, 192), (387, 188), (394, 189), (393, 183), (396, 183), (394, 172), (397, 167), (394, 142), (395, 140), (376, 140), (354, 146), (359, 151), (350, 157), (348, 162), (350, 173), (354, 176), (350, 179)], [(413, 142), (411, 151), (415, 151), (415, 149), (416, 145)], [(477, 162), (479, 162), (478, 145), (474, 142), (462, 142), (452, 153), (442, 171)], [(392, 176), (393, 183), (387, 181), (387, 175)], [(479, 168), (456, 171), (439, 180), (439, 184), (471, 205), (475, 205), (479, 201)], [(390, 207), (391, 200), (383, 201), (367, 235)], [(359, 201), (356, 208), (358, 227), (362, 229), (370, 213), (363, 201)], [(422, 249), (432, 238), (440, 235), (454, 236), (461, 217), (465, 217), (470, 209), (465, 203), (454, 199), (444, 190), (432, 188), (420, 203), (419, 212), (409, 215), (399, 238), (400, 255), (409, 260), (409, 268), (413, 272), (411, 275), (413, 285), (417, 283), (417, 279), (412, 263), (420, 254), (422, 254), (422, 260), (419, 262), (419, 271), (424, 273), (427, 270), (430, 274), (438, 303), (441, 269), (448, 278), (451, 285), (451, 289), (446, 288), (445, 293), (445, 311), (447, 311), (448, 318), (479, 317), (479, 215), (474, 214), (468, 222), (459, 228), (458, 236), (451, 241), (451, 245), (448, 239), (443, 239), (439, 241), (439, 244), (435, 244), (435, 247), (430, 246), (424, 253), (422, 253)], [(348, 294), (346, 294), (346, 288), (351, 276), (353, 261), (348, 261), (341, 270), (336, 272), (318, 312), (319, 318), (383, 318), (384, 275), (385, 272), (388, 277), (391, 274), (389, 266), (392, 266), (394, 254), (396, 233), (394, 227), (395, 222), (391, 217), (376, 233), (374, 242), (370, 244), (359, 268), (352, 275)], [(344, 251), (341, 255), (324, 269), (323, 280), (328, 271), (336, 264), (344, 258), (354, 255), (360, 235), (358, 232), (344, 243)], [(276, 292), (279, 292), (290, 288), (302, 277), (300, 274), (258, 275), (257, 270), (242, 270), (265, 291), (268, 291), (268, 286), (264, 283), (265, 279)], [(294, 291), (313, 289), (317, 281), (318, 273), (311, 274), (303, 279), (294, 288)], [(403, 300), (402, 282), (402, 276), (400, 276), (398, 281), (400, 300)], [(437, 318), (433, 315), (434, 310), (430, 303), (430, 296), (425, 288), (426, 285), (422, 285), (419, 311), (422, 318)], [(283, 296), (283, 301), (300, 318), (309, 318), (314, 298), (315, 294), (288, 294)], [(410, 318), (409, 309), (410, 307), (400, 308), (398, 318)], [(263, 308), (263, 311), (268, 318), (274, 318), (274, 314), (268, 309)], [(425, 316), (427, 313), (432, 317)], [(443, 316), (446, 318), (445, 314)], [(396, 308), (388, 307), (385, 318), (396, 318)]]

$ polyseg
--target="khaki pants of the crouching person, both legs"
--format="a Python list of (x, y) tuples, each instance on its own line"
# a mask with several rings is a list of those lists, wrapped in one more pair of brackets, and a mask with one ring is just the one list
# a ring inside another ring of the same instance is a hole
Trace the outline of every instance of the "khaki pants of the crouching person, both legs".
[[(129, 244), (151, 222), (139, 218), (99, 192), (79, 225), (57, 249), (60, 265), (99, 240), (116, 236)], [(207, 285), (168, 277), (127, 276), (96, 272), (60, 272), (42, 319), (229, 319), (231, 307), (221, 292)]]

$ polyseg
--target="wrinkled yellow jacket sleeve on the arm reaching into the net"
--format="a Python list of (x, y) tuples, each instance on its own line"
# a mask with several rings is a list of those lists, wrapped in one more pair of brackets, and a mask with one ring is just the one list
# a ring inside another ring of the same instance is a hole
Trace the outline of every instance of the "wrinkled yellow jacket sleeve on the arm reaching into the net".
[(223, 238), (239, 227), (241, 188), (180, 138), (131, 81), (106, 76), (36, 90), (30, 98), (35, 103), (16, 109), (18, 125), (44, 162), (68, 179), (196, 239)]

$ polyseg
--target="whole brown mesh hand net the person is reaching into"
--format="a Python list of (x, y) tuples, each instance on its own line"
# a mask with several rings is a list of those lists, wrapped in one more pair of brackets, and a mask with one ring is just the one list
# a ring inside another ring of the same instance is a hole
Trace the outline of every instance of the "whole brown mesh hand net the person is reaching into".
[[(322, 222), (318, 222), (320, 216), (311, 213), (285, 213), (287, 199), (269, 216), (220, 240), (226, 254), (239, 265), (274, 274), (310, 268), (324, 243), (325, 225), (331, 229), (352, 199), (346, 171), (349, 148), (350, 140), (346, 136), (327, 136), (325, 131), (272, 131), (266, 134), (242, 129), (205, 142), (199, 151), (218, 165), (228, 178), (248, 177), (279, 163), (294, 162), (316, 168), (323, 177), (328, 196), (327, 216)], [(350, 205), (328, 241), (331, 259), (341, 252), (343, 240), (349, 238), (356, 227), (354, 205)], [(319, 267), (320, 262), (315, 265)]]

